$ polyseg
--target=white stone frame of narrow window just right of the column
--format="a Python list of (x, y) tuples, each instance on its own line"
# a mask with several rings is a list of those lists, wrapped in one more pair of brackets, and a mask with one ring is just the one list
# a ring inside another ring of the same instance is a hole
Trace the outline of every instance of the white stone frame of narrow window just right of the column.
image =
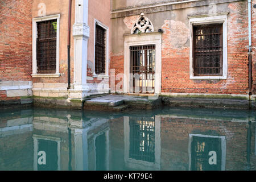
[[(96, 24), (105, 29), (105, 75), (97, 75), (95, 73), (95, 45), (96, 45)], [(97, 19), (94, 19), (94, 47), (93, 47), (93, 77), (94, 78), (109, 78), (109, 27)]]

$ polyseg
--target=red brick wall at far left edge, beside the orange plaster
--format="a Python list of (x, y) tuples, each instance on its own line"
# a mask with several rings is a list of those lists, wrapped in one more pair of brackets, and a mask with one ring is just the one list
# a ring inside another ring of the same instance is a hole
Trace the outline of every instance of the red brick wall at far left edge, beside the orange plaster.
[(19, 100), (19, 97), (7, 97), (6, 90), (20, 88), (2, 86), (22, 86), (19, 81), (32, 80), (31, 8), (31, 0), (0, 2), (0, 101)]

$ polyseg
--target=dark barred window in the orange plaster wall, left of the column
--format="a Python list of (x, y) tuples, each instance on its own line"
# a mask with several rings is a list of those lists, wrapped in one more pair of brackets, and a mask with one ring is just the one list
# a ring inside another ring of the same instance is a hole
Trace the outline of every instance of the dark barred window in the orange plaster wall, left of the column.
[(57, 19), (37, 22), (36, 60), (38, 73), (56, 72)]

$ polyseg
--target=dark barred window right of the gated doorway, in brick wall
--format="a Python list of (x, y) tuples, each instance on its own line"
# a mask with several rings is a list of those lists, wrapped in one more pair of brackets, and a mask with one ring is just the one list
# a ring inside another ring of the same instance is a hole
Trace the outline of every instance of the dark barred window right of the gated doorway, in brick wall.
[(195, 76), (222, 76), (222, 24), (193, 26)]

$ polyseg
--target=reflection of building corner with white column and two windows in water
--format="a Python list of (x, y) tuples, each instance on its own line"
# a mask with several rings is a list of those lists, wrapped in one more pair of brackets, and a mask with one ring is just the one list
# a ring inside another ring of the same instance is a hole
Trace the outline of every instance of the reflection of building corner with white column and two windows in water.
[(72, 112), (39, 115), (33, 123), (34, 170), (109, 169), (108, 119), (84, 119), (81, 112)]

